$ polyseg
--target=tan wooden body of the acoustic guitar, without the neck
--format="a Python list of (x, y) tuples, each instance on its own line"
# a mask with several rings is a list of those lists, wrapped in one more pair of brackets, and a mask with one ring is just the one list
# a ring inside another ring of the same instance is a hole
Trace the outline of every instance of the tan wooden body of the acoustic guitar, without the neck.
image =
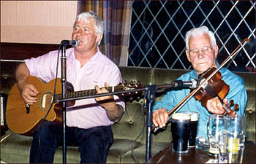
[[(54, 90), (55, 79), (48, 83), (42, 82), (37, 77), (30, 76), (28, 82), (37, 88), (37, 103), (26, 109), (26, 104), (20, 96), (17, 83), (10, 90), (7, 99), (6, 121), (8, 128), (14, 132), (31, 136), (33, 130), (42, 122), (42, 118), (48, 112)], [(57, 79), (56, 94), (61, 93), (61, 80)], [(75, 102), (74, 102), (75, 104)], [(61, 104), (53, 104), (45, 120), (54, 121), (59, 124), (62, 122)]]

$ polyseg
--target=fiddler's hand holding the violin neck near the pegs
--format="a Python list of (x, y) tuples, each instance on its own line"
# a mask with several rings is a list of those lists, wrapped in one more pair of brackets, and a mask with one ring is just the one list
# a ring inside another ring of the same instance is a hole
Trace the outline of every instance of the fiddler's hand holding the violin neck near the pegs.
[[(223, 99), (225, 104), (228, 104), (227, 98)], [(214, 114), (223, 114), (225, 110), (222, 108), (222, 103), (219, 101), (219, 98), (211, 98), (206, 102), (207, 110)]]

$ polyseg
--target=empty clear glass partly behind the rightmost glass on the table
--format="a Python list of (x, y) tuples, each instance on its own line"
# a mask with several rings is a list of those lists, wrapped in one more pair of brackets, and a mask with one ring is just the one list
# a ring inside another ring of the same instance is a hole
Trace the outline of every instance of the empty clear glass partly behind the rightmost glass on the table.
[(218, 157), (219, 155), (219, 134), (227, 130), (227, 117), (223, 115), (210, 115), (207, 122), (207, 134), (209, 141), (208, 155)]

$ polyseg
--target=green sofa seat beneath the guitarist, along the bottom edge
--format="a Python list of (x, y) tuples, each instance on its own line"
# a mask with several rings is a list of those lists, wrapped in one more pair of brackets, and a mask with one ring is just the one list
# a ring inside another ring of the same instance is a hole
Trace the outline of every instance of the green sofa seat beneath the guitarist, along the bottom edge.
[[(29, 151), (32, 137), (10, 133), (10, 136), (1, 143), (1, 159), (6, 163), (29, 163)], [(107, 163), (120, 163), (121, 157), (131, 152), (134, 140), (115, 139), (108, 154)], [(135, 142), (134, 149), (142, 146)], [(144, 147), (145, 148), (145, 147)], [(56, 149), (53, 163), (62, 163), (62, 147)], [(78, 147), (67, 147), (67, 163), (80, 163), (80, 152)]]

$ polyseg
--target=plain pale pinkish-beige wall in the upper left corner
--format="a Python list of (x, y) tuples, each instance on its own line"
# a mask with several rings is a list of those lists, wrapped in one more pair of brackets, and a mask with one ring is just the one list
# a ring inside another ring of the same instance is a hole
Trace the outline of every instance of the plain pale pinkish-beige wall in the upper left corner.
[(71, 39), (78, 1), (1, 1), (1, 42)]

